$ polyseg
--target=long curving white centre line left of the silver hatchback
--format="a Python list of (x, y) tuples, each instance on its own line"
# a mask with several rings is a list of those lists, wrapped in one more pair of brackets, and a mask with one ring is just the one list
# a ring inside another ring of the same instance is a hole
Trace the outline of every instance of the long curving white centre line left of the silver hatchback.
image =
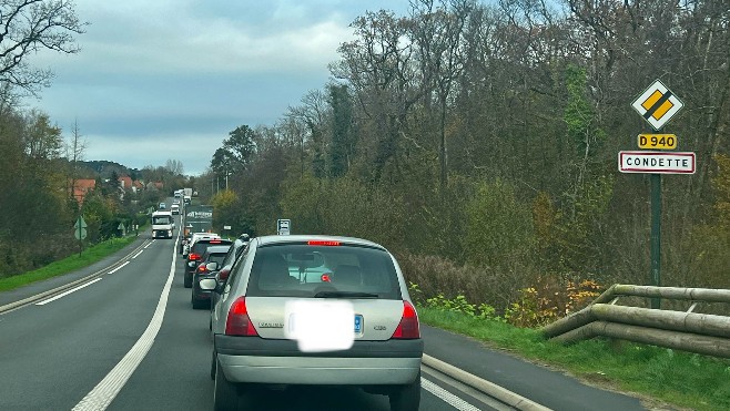
[(170, 266), (170, 275), (168, 282), (165, 282), (158, 308), (154, 310), (150, 325), (142, 333), (139, 340), (134, 343), (132, 349), (122, 358), (121, 361), (104, 377), (101, 382), (91, 390), (74, 408), (73, 411), (102, 411), (112, 402), (114, 397), (122, 390), (126, 380), (132, 376), (132, 372), (140, 366), (148, 351), (154, 342), (154, 338), (160, 331), (162, 320), (164, 319), (165, 308), (168, 306), (168, 296), (170, 295), (170, 287), (172, 286), (172, 278), (175, 276), (175, 261), (178, 255), (178, 240), (175, 240), (172, 248), (172, 265)]

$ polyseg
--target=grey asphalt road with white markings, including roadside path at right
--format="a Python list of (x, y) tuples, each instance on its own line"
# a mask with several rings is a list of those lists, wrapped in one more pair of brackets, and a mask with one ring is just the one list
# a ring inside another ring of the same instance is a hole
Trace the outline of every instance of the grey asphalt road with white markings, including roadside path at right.
[[(0, 410), (212, 409), (207, 311), (191, 308), (175, 239), (139, 243), (139, 249), (122, 255), (122, 266), (102, 270), (94, 282), (0, 315)], [(32, 287), (27, 291), (34, 292)], [(0, 297), (6, 299), (0, 298), (0, 306), (10, 298)], [(463, 337), (428, 327), (423, 333), (430, 356), (474, 378), (519, 390), (543, 405), (641, 409), (636, 399), (588, 388)], [(424, 411), (510, 409), (430, 367), (424, 367), (423, 387)], [(301, 387), (262, 390), (252, 397), (250, 409), (389, 407), (386, 397), (358, 389)]]

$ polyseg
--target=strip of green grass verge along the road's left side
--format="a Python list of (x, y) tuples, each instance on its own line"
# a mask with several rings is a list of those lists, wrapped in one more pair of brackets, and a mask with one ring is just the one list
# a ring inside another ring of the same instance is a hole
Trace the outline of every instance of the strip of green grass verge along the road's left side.
[(103, 259), (104, 257), (108, 257), (126, 247), (135, 239), (135, 236), (113, 238), (111, 240), (87, 248), (83, 250), (83, 253), (81, 253), (81, 256), (79, 256), (79, 254), (74, 254), (68, 258), (51, 263), (48, 266), (41, 267), (33, 271), (23, 273), (12, 277), (0, 278), (0, 291), (8, 291), (31, 282), (42, 281), (44, 279), (61, 276), (80, 268), (88, 267)]

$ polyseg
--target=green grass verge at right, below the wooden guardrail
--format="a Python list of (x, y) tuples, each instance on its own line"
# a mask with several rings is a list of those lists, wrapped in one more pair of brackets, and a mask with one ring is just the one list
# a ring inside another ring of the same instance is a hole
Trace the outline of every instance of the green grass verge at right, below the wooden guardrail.
[(562, 346), (534, 329), (427, 307), (418, 307), (418, 317), (426, 325), (474, 337), (592, 386), (633, 394), (652, 408), (730, 409), (730, 361), (726, 359), (607, 339)]

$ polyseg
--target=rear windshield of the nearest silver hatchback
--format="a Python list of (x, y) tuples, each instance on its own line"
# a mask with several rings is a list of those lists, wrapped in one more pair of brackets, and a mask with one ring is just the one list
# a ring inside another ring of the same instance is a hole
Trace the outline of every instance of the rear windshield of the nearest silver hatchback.
[(256, 249), (247, 296), (401, 299), (391, 255), (361, 246), (286, 244)]

